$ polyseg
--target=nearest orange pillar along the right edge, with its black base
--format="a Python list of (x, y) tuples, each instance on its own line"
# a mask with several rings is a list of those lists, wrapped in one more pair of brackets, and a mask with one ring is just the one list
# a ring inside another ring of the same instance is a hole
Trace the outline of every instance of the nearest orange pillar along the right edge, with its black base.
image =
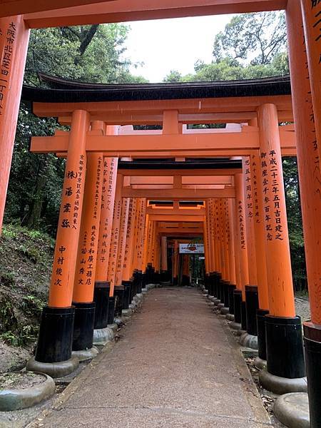
[[(303, 3), (303, 2), (302, 2)], [(311, 7), (313, 2), (305, 4), (305, 16), (313, 14), (313, 9), (319, 10), (320, 3)], [(309, 9), (310, 8), (310, 9)], [(300, 4), (289, 0), (286, 9), (287, 35), (289, 46), (289, 62), (292, 86), (292, 105), (295, 120), (295, 136), (297, 146), (297, 166), (300, 181), (300, 198), (302, 210), (303, 235), (305, 239), (305, 260), (307, 265), (307, 284), (311, 321), (303, 325), (305, 335), (305, 365), (307, 372), (307, 392), (309, 394), (310, 426), (315, 428), (320, 424), (320, 353), (321, 353), (321, 173), (320, 173), (320, 128), (316, 132), (316, 125), (320, 127), (320, 61), (313, 66), (314, 58), (309, 56), (307, 68), (307, 54), (305, 36), (302, 28)], [(307, 31), (317, 31), (317, 26)], [(307, 34), (306, 31), (306, 34)], [(319, 21), (320, 31), (320, 21)], [(315, 41), (307, 36), (308, 44)], [(319, 45), (321, 39), (319, 36)], [(311, 49), (309, 49), (310, 53)], [(320, 56), (320, 47), (319, 47)], [(319, 68), (319, 83), (315, 87), (315, 71)], [(309, 71), (312, 71), (310, 86)], [(317, 91), (319, 98), (316, 100)], [(313, 94), (313, 104), (312, 104)], [(314, 108), (319, 110), (315, 115)], [(316, 118), (317, 121), (312, 121)]]

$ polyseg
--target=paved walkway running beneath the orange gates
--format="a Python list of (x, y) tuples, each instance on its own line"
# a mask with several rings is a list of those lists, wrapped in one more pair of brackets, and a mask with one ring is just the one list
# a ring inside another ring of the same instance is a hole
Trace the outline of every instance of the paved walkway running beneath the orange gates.
[(151, 290), (121, 334), (41, 426), (271, 427), (229, 327), (197, 290)]

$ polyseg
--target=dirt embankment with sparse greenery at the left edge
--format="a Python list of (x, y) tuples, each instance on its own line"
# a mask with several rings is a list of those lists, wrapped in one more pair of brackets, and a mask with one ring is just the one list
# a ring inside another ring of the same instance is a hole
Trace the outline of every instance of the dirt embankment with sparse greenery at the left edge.
[(5, 225), (0, 238), (0, 372), (23, 367), (46, 304), (54, 240)]

